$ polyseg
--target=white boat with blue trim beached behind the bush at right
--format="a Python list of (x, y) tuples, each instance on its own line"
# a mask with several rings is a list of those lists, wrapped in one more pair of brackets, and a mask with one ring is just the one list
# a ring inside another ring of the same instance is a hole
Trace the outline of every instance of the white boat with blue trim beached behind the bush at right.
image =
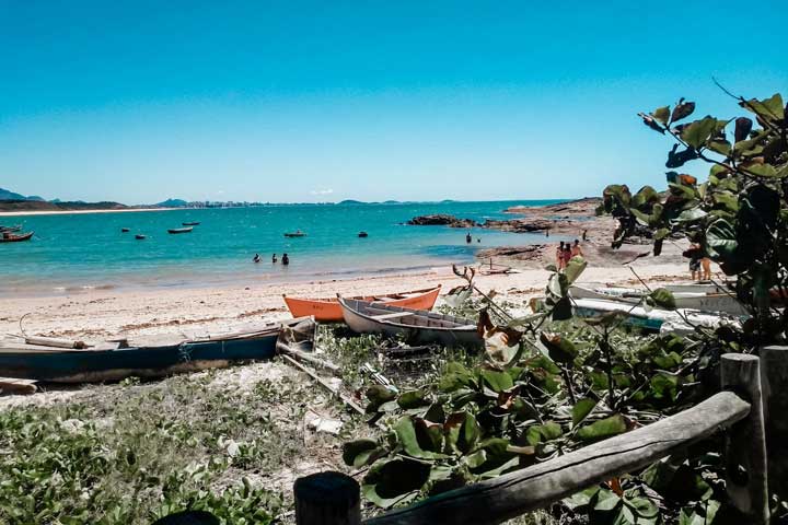
[(718, 328), (722, 324), (740, 324), (735, 317), (708, 312), (688, 308), (653, 310), (602, 299), (572, 299), (572, 306), (575, 314), (580, 317), (598, 317), (619, 312), (626, 316), (624, 324), (650, 331), (690, 334), (694, 331), (693, 326)]

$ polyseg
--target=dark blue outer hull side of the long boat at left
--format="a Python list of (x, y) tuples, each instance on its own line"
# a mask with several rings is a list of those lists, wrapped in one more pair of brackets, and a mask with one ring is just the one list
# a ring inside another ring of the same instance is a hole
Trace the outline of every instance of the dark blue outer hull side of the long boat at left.
[(278, 335), (276, 330), (251, 338), (116, 350), (0, 352), (0, 376), (57, 383), (161, 377), (229, 366), (236, 361), (270, 359), (276, 353)]

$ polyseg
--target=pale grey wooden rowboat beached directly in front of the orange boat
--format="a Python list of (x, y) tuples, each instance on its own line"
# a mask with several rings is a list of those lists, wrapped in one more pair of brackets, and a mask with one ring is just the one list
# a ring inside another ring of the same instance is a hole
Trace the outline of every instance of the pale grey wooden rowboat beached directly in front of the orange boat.
[(405, 337), (412, 345), (482, 347), (476, 323), (453, 315), (339, 298), (345, 323), (358, 334)]

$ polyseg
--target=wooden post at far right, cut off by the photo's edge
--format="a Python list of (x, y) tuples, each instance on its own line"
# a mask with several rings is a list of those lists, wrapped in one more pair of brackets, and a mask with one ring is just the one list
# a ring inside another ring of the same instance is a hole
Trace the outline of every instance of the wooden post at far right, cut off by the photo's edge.
[(761, 349), (769, 489), (788, 501), (788, 347)]

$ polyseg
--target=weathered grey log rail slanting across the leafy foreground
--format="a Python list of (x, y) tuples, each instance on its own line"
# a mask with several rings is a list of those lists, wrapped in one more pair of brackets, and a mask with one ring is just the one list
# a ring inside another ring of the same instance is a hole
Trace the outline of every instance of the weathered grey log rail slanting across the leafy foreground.
[(750, 415), (750, 404), (722, 392), (681, 413), (549, 462), (463, 487), (366, 525), (501, 523), (586, 487), (642, 468)]

